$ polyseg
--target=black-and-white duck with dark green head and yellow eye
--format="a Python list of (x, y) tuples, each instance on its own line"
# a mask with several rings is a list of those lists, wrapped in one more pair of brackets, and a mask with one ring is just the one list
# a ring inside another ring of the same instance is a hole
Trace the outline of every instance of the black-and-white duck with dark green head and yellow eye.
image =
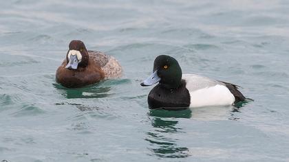
[(153, 73), (140, 85), (156, 83), (147, 97), (151, 109), (226, 106), (246, 100), (235, 84), (196, 74), (182, 74), (178, 61), (167, 55), (156, 57)]

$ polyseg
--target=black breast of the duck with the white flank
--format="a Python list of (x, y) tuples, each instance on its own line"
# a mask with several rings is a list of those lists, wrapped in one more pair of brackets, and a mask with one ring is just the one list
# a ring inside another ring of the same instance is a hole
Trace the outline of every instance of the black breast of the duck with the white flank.
[(189, 91), (186, 89), (186, 82), (182, 80), (178, 89), (166, 89), (162, 84), (153, 87), (147, 98), (149, 108), (185, 108), (191, 104)]

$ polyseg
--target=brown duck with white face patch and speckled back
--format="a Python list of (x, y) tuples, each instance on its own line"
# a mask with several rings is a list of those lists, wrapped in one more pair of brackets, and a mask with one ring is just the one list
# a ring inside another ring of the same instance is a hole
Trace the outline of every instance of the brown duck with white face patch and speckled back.
[(81, 40), (72, 40), (66, 58), (56, 70), (56, 82), (79, 88), (111, 78), (120, 78), (122, 67), (116, 58), (100, 51), (87, 51)]

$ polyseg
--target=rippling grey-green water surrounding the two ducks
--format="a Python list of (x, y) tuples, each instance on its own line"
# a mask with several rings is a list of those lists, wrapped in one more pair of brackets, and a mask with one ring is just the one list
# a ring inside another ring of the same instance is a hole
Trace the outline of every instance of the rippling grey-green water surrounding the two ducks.
[[(0, 161), (289, 161), (288, 15), (286, 0), (1, 1)], [(125, 76), (56, 84), (72, 39)], [(139, 84), (160, 54), (255, 101), (150, 111)]]

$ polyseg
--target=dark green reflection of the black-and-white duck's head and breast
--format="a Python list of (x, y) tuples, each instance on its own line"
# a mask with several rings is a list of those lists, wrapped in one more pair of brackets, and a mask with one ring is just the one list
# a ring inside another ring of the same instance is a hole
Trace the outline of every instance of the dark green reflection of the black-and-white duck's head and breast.
[(191, 110), (151, 110), (149, 115), (153, 117), (151, 122), (153, 129), (150, 132), (147, 132), (147, 138), (145, 139), (151, 143), (149, 150), (151, 150), (157, 157), (162, 158), (189, 157), (189, 149), (183, 146), (178, 146), (178, 139), (170, 136), (182, 132), (182, 128), (178, 128), (177, 126), (178, 120), (174, 118), (190, 118)]

